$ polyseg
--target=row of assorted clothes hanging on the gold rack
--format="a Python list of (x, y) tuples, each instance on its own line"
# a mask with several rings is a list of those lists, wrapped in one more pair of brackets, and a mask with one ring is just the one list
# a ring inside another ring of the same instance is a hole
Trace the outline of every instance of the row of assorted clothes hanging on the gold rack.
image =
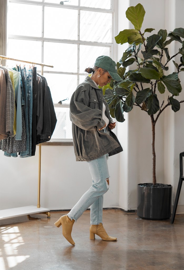
[[(36, 144), (51, 139), (57, 122), (45, 77), (36, 67), (0, 67), (1, 103), (5, 105), (0, 108), (0, 149), (8, 157), (34, 156)], [(7, 108), (11, 117), (6, 116)], [(11, 120), (10, 127), (6, 119)]]

